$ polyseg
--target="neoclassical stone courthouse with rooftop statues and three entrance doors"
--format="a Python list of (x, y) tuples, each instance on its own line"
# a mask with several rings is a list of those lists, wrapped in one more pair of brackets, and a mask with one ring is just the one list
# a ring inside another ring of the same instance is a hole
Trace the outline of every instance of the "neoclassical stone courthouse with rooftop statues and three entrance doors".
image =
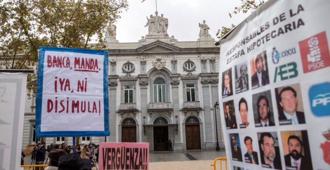
[[(158, 20), (156, 23), (154, 20)], [(119, 43), (116, 26), (109, 25), (110, 136), (79, 138), (100, 141), (148, 142), (151, 151), (215, 149), (214, 103), (218, 101), (219, 47), (199, 25), (196, 41), (178, 41), (167, 34), (168, 19), (149, 18), (148, 33), (137, 42)], [(198, 29), (198, 27), (196, 27)], [(35, 143), (34, 100), (26, 100), (23, 148)], [(223, 147), (219, 110), (217, 129)], [(47, 137), (46, 143), (72, 143), (72, 137)]]

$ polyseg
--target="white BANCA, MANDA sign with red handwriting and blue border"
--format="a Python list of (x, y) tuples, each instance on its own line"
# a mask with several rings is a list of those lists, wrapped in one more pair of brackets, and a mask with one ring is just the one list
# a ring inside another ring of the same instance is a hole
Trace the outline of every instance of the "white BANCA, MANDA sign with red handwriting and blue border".
[(39, 47), (36, 136), (105, 136), (108, 52)]

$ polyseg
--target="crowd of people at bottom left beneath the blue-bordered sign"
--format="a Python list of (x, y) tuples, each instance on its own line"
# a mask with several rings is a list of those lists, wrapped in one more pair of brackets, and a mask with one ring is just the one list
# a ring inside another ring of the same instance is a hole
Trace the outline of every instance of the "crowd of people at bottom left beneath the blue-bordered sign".
[[(94, 143), (84, 144), (83, 149), (80, 145), (73, 147), (67, 143), (46, 146), (45, 143), (38, 142), (32, 150), (31, 164), (48, 164), (45, 170), (52, 169), (91, 169), (94, 162), (98, 162), (98, 147)], [(46, 156), (46, 152), (48, 152)], [(24, 164), (25, 154), (22, 151), (21, 165)], [(94, 161), (93, 161), (94, 160)], [(26, 163), (25, 163), (26, 164)], [(36, 170), (43, 170), (43, 167), (36, 167)]]

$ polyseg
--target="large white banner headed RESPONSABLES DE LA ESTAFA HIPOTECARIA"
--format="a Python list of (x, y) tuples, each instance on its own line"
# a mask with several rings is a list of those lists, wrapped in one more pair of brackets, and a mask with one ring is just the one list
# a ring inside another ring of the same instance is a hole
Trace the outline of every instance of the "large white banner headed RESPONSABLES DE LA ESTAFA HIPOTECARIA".
[(269, 0), (221, 39), (231, 169), (330, 169), (329, 6)]

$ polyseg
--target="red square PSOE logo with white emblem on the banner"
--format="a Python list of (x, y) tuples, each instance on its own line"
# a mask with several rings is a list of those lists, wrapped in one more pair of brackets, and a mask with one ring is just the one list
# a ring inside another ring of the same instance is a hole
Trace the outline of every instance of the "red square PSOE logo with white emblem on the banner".
[(330, 66), (330, 54), (325, 31), (299, 42), (303, 72)]

